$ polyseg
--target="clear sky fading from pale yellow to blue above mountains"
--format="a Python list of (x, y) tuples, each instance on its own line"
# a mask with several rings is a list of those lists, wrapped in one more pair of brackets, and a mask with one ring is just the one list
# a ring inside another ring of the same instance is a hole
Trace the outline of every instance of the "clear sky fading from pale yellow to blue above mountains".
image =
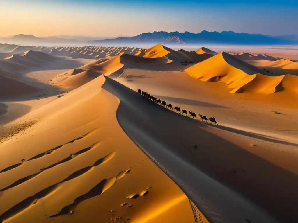
[(298, 0), (0, 0), (0, 36), (298, 34)]

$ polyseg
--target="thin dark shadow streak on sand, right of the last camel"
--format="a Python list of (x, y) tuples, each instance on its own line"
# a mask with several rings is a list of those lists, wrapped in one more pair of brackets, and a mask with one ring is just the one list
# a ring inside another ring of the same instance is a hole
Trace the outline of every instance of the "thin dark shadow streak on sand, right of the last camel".
[(268, 137), (268, 136), (262, 135), (262, 134), (256, 134), (256, 133), (253, 133), (253, 132), (243, 131), (243, 130), (230, 128), (230, 127), (222, 126), (222, 125), (216, 125), (215, 127), (226, 130), (226, 131), (229, 131), (229, 132), (237, 133), (237, 134), (240, 134), (240, 135), (243, 135), (243, 136), (249, 136), (251, 138), (261, 139), (261, 140), (268, 141), (268, 142), (280, 143), (280, 144), (289, 145), (289, 146), (298, 146), (298, 144), (296, 144), (296, 143), (287, 142), (287, 141), (284, 141), (282, 139), (278, 139), (278, 138), (275, 138), (275, 137)]

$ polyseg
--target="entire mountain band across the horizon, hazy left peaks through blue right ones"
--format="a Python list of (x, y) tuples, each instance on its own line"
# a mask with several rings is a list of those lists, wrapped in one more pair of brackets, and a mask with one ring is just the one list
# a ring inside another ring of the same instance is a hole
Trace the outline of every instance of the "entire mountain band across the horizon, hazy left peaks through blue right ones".
[(232, 31), (200, 33), (192, 32), (148, 32), (137, 36), (117, 36), (117, 37), (92, 37), (92, 36), (50, 36), (35, 37), (33, 35), (19, 34), (12, 37), (0, 37), (0, 42), (20, 44), (20, 43), (77, 43), (89, 45), (101, 44), (133, 44), (133, 43), (162, 43), (162, 44), (251, 44), (251, 45), (296, 45), (298, 35), (270, 36), (263, 34), (237, 33)]

